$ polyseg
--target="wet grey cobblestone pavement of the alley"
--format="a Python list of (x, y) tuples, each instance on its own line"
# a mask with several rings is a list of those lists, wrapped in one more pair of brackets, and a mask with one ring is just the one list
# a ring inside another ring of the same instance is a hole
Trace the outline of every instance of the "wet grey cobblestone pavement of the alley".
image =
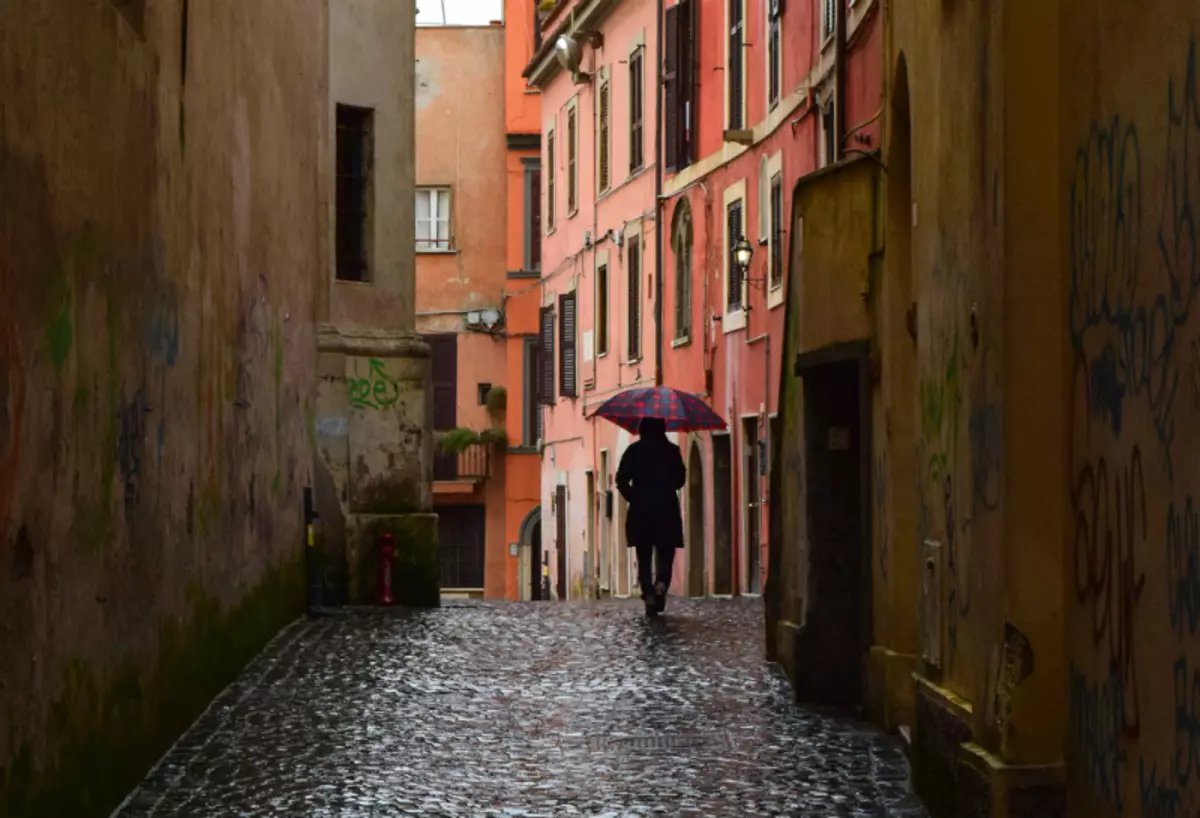
[(896, 742), (805, 710), (755, 601), (296, 622), (115, 813), (924, 818)]

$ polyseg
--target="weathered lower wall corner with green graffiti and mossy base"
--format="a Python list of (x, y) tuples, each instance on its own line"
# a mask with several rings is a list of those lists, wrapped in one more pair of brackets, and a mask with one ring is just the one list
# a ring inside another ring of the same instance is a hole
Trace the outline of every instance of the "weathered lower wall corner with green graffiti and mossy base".
[(430, 348), (413, 332), (318, 335), (316, 503), (326, 587), (378, 600), (379, 535), (396, 539), (396, 605), (437, 606)]

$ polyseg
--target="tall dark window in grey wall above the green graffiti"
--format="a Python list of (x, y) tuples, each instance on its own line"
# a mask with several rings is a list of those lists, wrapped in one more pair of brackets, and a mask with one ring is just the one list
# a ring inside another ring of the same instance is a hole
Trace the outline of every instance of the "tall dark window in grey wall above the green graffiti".
[(374, 112), (337, 106), (337, 277), (368, 281), (371, 148)]

